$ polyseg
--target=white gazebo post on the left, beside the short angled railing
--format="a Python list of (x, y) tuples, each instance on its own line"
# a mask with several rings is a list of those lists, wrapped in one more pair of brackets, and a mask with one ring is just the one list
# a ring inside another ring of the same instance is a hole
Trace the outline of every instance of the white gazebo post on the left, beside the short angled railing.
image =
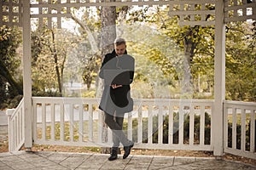
[(30, 0), (23, 1), (23, 94), (25, 115), (25, 148), (32, 148), (32, 79)]

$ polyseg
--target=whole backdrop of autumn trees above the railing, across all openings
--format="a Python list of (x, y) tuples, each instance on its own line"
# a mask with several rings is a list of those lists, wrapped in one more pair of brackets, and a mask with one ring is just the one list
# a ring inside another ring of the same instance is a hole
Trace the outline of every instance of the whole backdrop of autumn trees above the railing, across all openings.
[[(136, 59), (134, 98), (214, 98), (214, 26), (178, 26), (164, 7), (114, 10), (116, 35)], [(112, 29), (102, 14), (73, 8), (61, 30), (32, 24), (33, 95), (96, 97), (102, 27)], [(255, 35), (255, 21), (226, 25), (226, 99), (256, 101)], [(0, 27), (0, 108), (22, 95), (20, 44), (19, 28)]]

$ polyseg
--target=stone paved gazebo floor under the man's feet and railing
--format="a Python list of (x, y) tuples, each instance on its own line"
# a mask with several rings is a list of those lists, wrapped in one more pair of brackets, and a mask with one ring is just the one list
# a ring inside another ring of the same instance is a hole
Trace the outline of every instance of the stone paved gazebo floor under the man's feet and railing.
[(0, 169), (252, 169), (256, 166), (215, 158), (174, 157), (174, 156), (128, 156), (125, 160), (108, 161), (108, 155), (64, 152), (26, 152), (0, 153)]

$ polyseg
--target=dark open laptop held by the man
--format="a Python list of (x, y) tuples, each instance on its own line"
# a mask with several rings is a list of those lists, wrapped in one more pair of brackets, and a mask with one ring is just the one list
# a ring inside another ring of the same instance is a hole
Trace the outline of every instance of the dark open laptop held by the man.
[(129, 85), (130, 84), (130, 71), (122, 69), (105, 69), (104, 82), (106, 85)]

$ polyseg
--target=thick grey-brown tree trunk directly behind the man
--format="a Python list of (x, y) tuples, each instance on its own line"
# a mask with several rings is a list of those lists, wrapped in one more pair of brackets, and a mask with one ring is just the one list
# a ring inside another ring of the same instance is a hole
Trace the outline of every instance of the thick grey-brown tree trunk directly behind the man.
[[(105, 1), (105, 0), (104, 0)], [(104, 2), (103, 1), (103, 2)], [(101, 35), (101, 51), (102, 59), (105, 54), (111, 53), (113, 50), (113, 42), (116, 38), (116, 8), (115, 7), (102, 7), (101, 8), (102, 20), (102, 35)], [(102, 87), (102, 83), (100, 83)], [(104, 120), (104, 116), (103, 116)], [(105, 122), (102, 123), (102, 142), (108, 142), (108, 126)], [(109, 153), (108, 147), (102, 148), (102, 153)]]

